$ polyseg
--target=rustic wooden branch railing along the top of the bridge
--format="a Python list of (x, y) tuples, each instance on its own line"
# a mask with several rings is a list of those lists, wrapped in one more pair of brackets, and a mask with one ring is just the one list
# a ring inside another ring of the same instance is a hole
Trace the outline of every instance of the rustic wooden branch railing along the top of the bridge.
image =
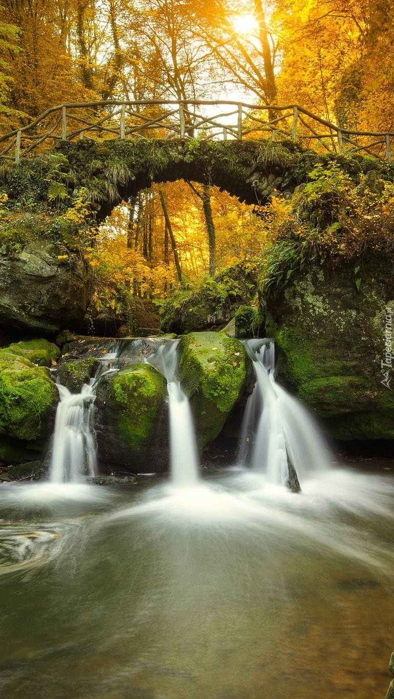
[[(221, 108), (213, 113), (213, 108)], [(204, 113), (202, 113), (204, 112)], [(266, 118), (265, 115), (267, 115)], [(56, 140), (94, 138), (291, 138), (315, 150), (364, 151), (391, 163), (394, 132), (343, 129), (297, 105), (235, 101), (97, 101), (61, 104), (30, 124), (0, 136), (0, 159), (18, 162)], [(45, 144), (45, 145), (44, 145)]]

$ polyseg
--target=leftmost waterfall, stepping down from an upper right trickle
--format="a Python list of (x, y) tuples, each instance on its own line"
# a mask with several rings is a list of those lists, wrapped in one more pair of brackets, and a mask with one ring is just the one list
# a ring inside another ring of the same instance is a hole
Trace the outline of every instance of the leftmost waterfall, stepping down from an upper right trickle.
[(90, 384), (83, 384), (79, 394), (71, 394), (65, 386), (57, 384), (60, 401), (50, 463), (52, 483), (75, 483), (84, 475), (97, 474), (93, 403), (101, 378), (117, 370), (112, 364), (118, 357), (118, 347), (119, 343), (113, 347), (114, 352), (106, 352), (104, 359), (99, 358), (101, 366)]

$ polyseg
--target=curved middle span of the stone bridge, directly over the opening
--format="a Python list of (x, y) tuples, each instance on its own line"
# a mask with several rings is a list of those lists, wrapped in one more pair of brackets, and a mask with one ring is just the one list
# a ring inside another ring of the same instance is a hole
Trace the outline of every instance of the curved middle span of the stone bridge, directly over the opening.
[(53, 154), (67, 159), (67, 166), (76, 175), (76, 188), (87, 187), (92, 192), (99, 188), (97, 201), (92, 203), (97, 219), (102, 220), (122, 200), (128, 201), (153, 182), (185, 180), (216, 185), (241, 202), (264, 205), (273, 194), (290, 195), (302, 181), (302, 171), (295, 171), (302, 152), (290, 140), (157, 139), (135, 143), (84, 139), (59, 143)]

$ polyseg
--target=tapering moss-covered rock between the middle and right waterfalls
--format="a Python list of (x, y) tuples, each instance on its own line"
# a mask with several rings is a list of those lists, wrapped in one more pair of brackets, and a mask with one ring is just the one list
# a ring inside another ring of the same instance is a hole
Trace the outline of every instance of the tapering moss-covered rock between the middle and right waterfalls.
[(200, 449), (220, 433), (251, 373), (239, 340), (213, 332), (182, 338), (178, 377), (190, 399)]

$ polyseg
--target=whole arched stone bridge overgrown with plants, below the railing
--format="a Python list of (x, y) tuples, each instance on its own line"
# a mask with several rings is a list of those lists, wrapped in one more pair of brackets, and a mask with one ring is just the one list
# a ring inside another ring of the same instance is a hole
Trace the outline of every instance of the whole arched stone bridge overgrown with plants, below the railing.
[(63, 201), (70, 204), (71, 194), (85, 187), (100, 222), (121, 201), (128, 201), (153, 182), (183, 179), (216, 185), (239, 201), (255, 206), (264, 206), (272, 196), (290, 199), (295, 187), (307, 181), (318, 161), (335, 162), (356, 176), (376, 166), (384, 178), (393, 179), (392, 166), (374, 163), (371, 157), (317, 154), (292, 140), (100, 142), (88, 138), (73, 143), (61, 141), (55, 150), (15, 165), (6, 164), (0, 177), (2, 171), (3, 192), (22, 206), (27, 198), (39, 203), (48, 201), (49, 195), (48, 206), (57, 207), (59, 199), (53, 195), (53, 182), (59, 184), (60, 199), (64, 197)]

